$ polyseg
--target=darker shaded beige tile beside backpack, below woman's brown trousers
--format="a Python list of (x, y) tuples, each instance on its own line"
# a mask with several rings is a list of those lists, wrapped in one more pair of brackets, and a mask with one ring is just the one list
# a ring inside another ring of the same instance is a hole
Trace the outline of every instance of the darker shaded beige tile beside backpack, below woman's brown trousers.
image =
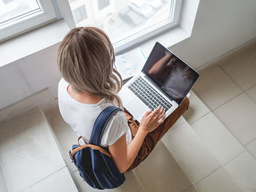
[(147, 192), (181, 192), (192, 185), (161, 141), (134, 172)]

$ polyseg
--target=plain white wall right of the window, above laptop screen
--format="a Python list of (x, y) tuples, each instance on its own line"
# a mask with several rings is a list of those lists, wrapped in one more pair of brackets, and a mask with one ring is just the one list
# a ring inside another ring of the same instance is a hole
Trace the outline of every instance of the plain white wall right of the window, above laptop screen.
[(192, 37), (170, 50), (197, 68), (255, 37), (255, 0), (200, 0)]

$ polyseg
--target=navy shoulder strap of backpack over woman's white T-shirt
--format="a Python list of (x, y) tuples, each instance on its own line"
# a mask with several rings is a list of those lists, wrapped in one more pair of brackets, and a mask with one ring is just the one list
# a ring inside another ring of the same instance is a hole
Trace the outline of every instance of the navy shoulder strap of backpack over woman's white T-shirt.
[(102, 134), (104, 133), (105, 127), (107, 126), (110, 118), (115, 114), (115, 112), (121, 111), (120, 108), (110, 106), (102, 110), (98, 118), (95, 120), (94, 128), (91, 131), (91, 138), (89, 144), (100, 145), (102, 139)]

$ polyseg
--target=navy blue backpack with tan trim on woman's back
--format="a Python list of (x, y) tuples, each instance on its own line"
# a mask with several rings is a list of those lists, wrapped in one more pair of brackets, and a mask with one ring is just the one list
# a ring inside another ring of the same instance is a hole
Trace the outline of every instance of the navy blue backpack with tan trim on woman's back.
[(93, 188), (117, 188), (125, 181), (109, 153), (108, 147), (99, 147), (110, 118), (121, 109), (118, 107), (107, 107), (99, 114), (91, 132), (89, 144), (72, 146), (69, 151), (70, 158), (80, 172), (80, 176)]

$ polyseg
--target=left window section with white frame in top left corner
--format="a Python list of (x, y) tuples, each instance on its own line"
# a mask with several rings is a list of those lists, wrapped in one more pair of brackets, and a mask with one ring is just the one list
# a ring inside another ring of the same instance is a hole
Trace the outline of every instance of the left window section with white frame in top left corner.
[(0, 0), (0, 41), (55, 18), (51, 0)]

